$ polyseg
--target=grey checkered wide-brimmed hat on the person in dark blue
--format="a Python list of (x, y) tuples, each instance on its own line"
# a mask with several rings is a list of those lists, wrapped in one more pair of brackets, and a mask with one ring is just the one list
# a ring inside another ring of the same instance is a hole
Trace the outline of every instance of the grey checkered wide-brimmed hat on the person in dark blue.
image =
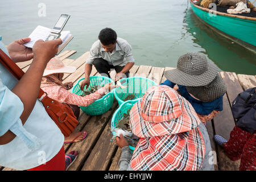
[(164, 72), (164, 76), (175, 84), (183, 86), (208, 85), (218, 74), (218, 67), (209, 63), (198, 52), (186, 53), (179, 57), (177, 68)]

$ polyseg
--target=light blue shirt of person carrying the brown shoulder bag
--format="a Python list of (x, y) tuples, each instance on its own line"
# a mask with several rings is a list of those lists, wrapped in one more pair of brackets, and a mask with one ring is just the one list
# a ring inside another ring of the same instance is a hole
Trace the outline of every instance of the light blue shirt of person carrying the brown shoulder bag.
[[(1, 41), (0, 49), (8, 55)], [(39, 100), (22, 125), (23, 102), (11, 92), (17, 82), (0, 64), (0, 136), (8, 130), (16, 135), (11, 142), (0, 145), (0, 166), (26, 170), (51, 160), (63, 147), (64, 136)]]

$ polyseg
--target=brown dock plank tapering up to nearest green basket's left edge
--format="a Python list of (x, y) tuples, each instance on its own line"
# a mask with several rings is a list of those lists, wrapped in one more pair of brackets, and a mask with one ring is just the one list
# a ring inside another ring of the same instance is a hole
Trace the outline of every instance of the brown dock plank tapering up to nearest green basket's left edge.
[(110, 139), (113, 137), (110, 130), (111, 119), (109, 120), (108, 125), (106, 125), (92, 152), (90, 152), (84, 167), (81, 169), (82, 171), (106, 171), (115, 149), (117, 148), (115, 141), (110, 142)]

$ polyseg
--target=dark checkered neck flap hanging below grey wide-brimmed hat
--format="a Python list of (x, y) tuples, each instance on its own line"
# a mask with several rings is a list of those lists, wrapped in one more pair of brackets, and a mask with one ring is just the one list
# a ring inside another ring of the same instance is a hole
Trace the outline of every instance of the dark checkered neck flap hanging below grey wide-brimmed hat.
[(193, 96), (202, 102), (212, 102), (226, 92), (226, 85), (222, 78), (217, 75), (212, 82), (205, 86), (186, 86)]

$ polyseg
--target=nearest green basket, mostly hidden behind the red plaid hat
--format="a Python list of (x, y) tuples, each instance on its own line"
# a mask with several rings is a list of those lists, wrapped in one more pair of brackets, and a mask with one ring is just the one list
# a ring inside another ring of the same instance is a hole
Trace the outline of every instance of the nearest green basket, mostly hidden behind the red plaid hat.
[[(115, 129), (118, 125), (118, 122), (123, 118), (123, 114), (128, 114), (128, 110), (133, 107), (133, 105), (137, 102), (137, 100), (126, 101), (118, 107), (115, 111), (112, 120), (111, 120), (111, 129)], [(112, 134), (115, 136), (115, 132), (113, 131)], [(129, 146), (131, 153), (135, 150), (135, 147)]]

